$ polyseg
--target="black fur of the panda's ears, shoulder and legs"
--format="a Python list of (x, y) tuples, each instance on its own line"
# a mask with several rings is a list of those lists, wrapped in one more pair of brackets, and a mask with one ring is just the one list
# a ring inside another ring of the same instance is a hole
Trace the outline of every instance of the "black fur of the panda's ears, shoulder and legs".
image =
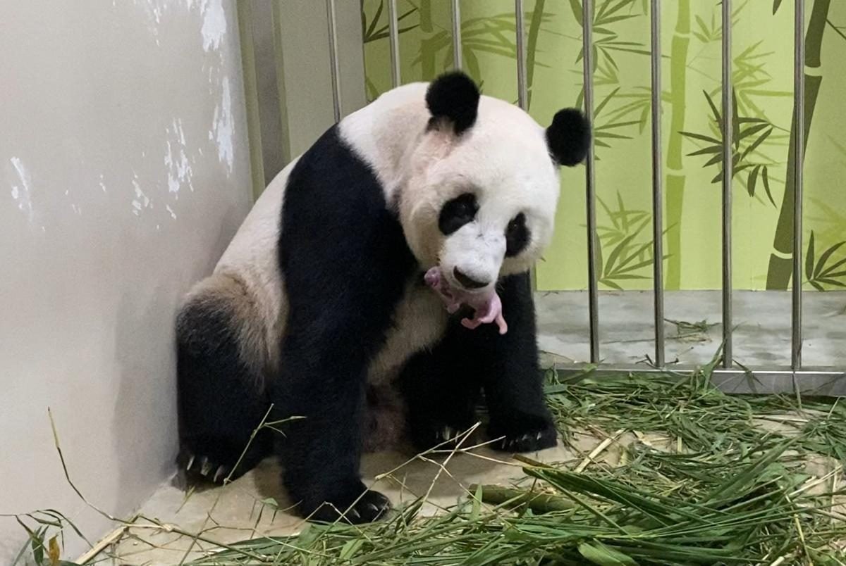
[[(475, 122), (478, 91), (464, 75), (449, 73), (432, 84), (426, 103), (434, 119), (460, 134)], [(557, 122), (547, 128), (547, 139), (558, 139)], [(585, 135), (550, 141), (553, 157), (581, 161)], [(241, 342), (251, 331), (245, 321), (258, 318), (259, 308), (237, 275), (222, 275), (213, 292), (195, 291), (184, 304), (177, 320), (184, 468), (221, 482), (249, 471), (276, 444), (283, 484), (301, 514), (334, 520), (349, 509), (344, 518), (362, 522), (388, 509), (387, 498), (366, 491), (359, 475), (368, 419), (382, 403), (367, 383), (367, 369), (409, 281), (424, 282), (395, 204), (384, 195), (338, 125), (290, 171), (277, 242), (288, 303), (277, 364), (244, 359)], [(502, 437), (495, 448), (523, 452), (556, 444), (541, 389), (528, 272), (503, 277), (497, 291), (507, 334), (494, 324), (466, 329), (459, 324), (463, 313), (456, 313), (442, 340), (410, 356), (400, 373), (403, 418), (417, 449), (472, 426), (482, 396), (488, 435)], [(305, 418), (286, 421), (292, 416)], [(284, 436), (266, 428), (250, 443), (262, 418), (280, 422)]]

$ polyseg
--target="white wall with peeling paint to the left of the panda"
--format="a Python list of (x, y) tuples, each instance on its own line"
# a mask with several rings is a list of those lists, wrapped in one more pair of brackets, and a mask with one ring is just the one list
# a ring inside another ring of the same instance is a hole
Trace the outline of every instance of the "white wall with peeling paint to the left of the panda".
[[(0, 513), (173, 471), (173, 314), (250, 207), (233, 0), (0, 0)], [(0, 518), (0, 563), (25, 536)], [(71, 541), (68, 554), (82, 550)]]

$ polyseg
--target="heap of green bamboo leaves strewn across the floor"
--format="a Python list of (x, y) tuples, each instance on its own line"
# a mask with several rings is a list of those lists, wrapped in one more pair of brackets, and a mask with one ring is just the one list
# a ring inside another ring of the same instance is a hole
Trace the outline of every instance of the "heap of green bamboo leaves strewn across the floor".
[[(725, 395), (709, 372), (547, 386), (566, 436), (665, 435), (618, 465), (519, 458), (525, 487), (474, 486), (452, 509), (422, 500), (373, 525), (310, 525), (228, 545), (192, 564), (843, 564), (838, 504), (846, 408), (832, 400)], [(774, 421), (780, 427), (761, 427)], [(614, 433), (617, 431), (617, 433)], [(823, 474), (810, 460), (826, 460)]]

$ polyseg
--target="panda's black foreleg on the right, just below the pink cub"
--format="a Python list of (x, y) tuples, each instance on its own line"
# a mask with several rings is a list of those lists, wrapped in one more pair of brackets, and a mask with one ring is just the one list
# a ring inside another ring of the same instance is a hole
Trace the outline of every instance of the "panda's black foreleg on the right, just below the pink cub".
[(490, 416), (492, 448), (533, 452), (558, 444), (543, 395), (536, 340), (535, 304), (528, 272), (503, 278), (498, 288), (508, 333), (486, 324), (460, 329), (456, 340), (481, 378)]

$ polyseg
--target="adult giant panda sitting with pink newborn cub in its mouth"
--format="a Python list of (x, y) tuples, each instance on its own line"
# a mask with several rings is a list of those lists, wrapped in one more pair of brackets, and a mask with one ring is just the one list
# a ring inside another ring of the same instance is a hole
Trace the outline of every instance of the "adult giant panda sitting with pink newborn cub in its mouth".
[(299, 513), (359, 523), (389, 509), (362, 451), (442, 444), (482, 398), (494, 448), (554, 446), (529, 269), (589, 139), (580, 112), (542, 128), (463, 73), (329, 128), (179, 310), (180, 464), (219, 483), (275, 449)]

